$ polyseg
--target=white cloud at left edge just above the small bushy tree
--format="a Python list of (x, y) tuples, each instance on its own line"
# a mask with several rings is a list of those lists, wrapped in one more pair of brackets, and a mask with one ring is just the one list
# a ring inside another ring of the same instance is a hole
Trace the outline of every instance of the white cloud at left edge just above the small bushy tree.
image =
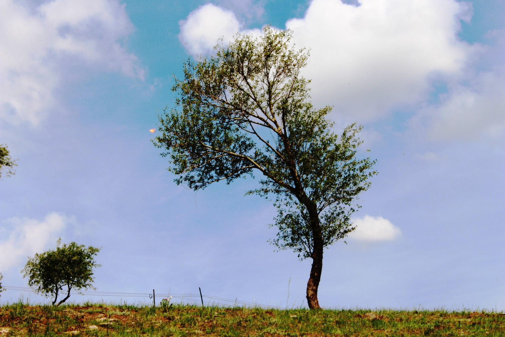
[(59, 234), (72, 218), (50, 213), (42, 221), (29, 218), (10, 218), (0, 227), (0, 270), (26, 263), (26, 258), (42, 253), (48, 245), (55, 246)]

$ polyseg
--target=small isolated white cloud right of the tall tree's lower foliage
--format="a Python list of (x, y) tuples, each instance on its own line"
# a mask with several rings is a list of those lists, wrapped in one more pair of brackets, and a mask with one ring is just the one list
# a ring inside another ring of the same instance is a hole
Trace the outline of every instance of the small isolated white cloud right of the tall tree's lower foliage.
[(400, 237), (401, 230), (382, 217), (366, 215), (363, 219), (353, 219), (356, 229), (348, 238), (363, 243), (392, 241)]

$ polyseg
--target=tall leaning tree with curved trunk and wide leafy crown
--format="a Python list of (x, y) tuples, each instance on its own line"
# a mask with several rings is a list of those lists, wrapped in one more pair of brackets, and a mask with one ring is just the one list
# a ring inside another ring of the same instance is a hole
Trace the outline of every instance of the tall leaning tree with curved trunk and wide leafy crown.
[(357, 158), (361, 126), (339, 136), (326, 118), (331, 108), (309, 102), (310, 81), (300, 76), (309, 53), (290, 47), (291, 36), (267, 26), (262, 37), (237, 34), (214, 56), (185, 62), (172, 88), (176, 107), (159, 116), (153, 143), (174, 181), (194, 190), (261, 173), (261, 187), (246, 194), (275, 196), (271, 243), (312, 258), (307, 302), (318, 309), (323, 249), (355, 228), (353, 200), (370, 186), (375, 161)]

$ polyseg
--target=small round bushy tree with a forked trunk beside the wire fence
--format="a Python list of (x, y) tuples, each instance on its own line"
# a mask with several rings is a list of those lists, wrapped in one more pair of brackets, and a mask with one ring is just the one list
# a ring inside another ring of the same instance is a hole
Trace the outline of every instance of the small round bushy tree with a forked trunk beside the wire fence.
[(93, 288), (93, 268), (100, 267), (94, 256), (99, 251), (99, 248), (85, 247), (75, 242), (61, 245), (61, 239), (58, 239), (56, 250), (37, 253), (33, 258), (28, 258), (21, 272), (24, 272), (23, 277), (29, 277), (28, 285), (36, 287), (35, 293), (42, 293), (46, 297), (54, 296), (53, 305), (59, 292), (66, 287), (67, 295), (58, 302), (59, 306), (70, 297), (72, 288)]

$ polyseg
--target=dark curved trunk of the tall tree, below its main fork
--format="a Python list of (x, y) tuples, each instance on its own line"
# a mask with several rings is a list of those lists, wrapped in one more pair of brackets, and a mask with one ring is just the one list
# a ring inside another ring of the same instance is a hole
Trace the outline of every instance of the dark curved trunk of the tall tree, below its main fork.
[(321, 309), (317, 299), (317, 290), (319, 281), (321, 280), (321, 271), (323, 270), (323, 237), (321, 233), (321, 225), (319, 222), (319, 215), (317, 209), (309, 209), (309, 216), (311, 218), (312, 237), (314, 240), (314, 250), (312, 252), (312, 268), (311, 276), (307, 282), (307, 303), (309, 309)]

